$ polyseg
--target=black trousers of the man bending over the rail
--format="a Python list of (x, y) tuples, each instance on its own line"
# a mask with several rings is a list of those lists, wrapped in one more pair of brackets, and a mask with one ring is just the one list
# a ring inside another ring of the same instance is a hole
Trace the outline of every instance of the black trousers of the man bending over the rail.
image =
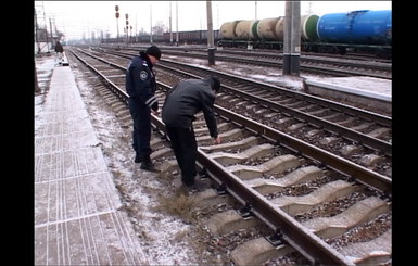
[(193, 127), (181, 128), (166, 125), (165, 128), (181, 169), (181, 181), (186, 186), (191, 186), (194, 183), (194, 176), (197, 174), (195, 161), (198, 156), (198, 144)]

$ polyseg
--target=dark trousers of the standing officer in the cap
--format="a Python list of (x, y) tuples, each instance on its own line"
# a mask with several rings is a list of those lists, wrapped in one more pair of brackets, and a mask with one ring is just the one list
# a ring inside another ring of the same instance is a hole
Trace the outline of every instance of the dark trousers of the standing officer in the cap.
[(151, 111), (144, 104), (139, 104), (129, 98), (129, 111), (134, 119), (132, 148), (141, 157), (152, 152), (151, 140)]

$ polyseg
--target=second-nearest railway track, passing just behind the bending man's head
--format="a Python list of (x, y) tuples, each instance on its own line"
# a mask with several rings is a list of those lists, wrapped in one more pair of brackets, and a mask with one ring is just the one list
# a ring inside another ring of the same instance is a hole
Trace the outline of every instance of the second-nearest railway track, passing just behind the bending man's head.
[[(119, 53), (117, 53), (119, 54)], [(131, 55), (129, 55), (131, 56)], [(181, 78), (217, 75), (223, 90), (216, 104), (320, 147), (383, 176), (392, 176), (392, 119), (286, 88), (256, 83), (174, 61), (159, 64), (173, 86)]]

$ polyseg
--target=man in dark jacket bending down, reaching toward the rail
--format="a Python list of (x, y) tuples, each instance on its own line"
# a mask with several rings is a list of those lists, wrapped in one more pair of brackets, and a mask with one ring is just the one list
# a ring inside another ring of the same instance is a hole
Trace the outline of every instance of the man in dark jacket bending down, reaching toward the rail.
[(219, 89), (220, 81), (216, 77), (186, 79), (174, 86), (164, 101), (162, 118), (181, 170), (181, 181), (188, 189), (201, 189), (202, 186), (194, 180), (198, 144), (192, 122), (198, 112), (203, 111), (211, 137), (220, 144), (213, 111), (215, 93)]

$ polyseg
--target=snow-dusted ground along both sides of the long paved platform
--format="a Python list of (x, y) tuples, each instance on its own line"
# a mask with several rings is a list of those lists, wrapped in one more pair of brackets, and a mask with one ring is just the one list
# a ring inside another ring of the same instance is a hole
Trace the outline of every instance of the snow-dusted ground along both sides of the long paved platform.
[[(48, 100), (48, 79), (55, 66), (54, 56), (37, 58), (36, 63), (38, 81), (42, 87), (42, 93), (35, 94), (34, 119), (35, 125), (39, 125), (42, 123), (42, 104)], [(114, 112), (94, 92), (91, 80), (85, 80), (84, 74), (75, 63), (71, 62), (69, 67), (73, 67), (115, 186), (124, 190), (125, 195), (121, 195), (122, 202), (125, 208), (135, 214), (129, 217), (150, 262), (152, 265), (197, 264), (199, 261), (188, 238), (191, 225), (156, 211), (160, 204), (159, 195), (164, 192), (164, 186), (155, 178), (155, 174), (143, 172), (139, 169), (138, 164), (132, 163), (130, 132), (121, 127)]]

